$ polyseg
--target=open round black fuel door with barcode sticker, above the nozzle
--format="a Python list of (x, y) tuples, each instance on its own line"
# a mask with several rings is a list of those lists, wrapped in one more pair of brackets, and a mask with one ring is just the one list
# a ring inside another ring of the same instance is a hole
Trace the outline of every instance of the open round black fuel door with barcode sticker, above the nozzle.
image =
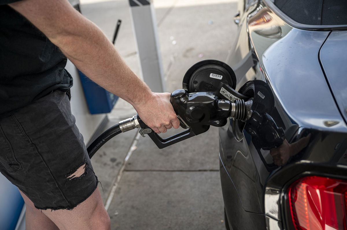
[(236, 76), (229, 65), (218, 60), (204, 60), (194, 64), (183, 78), (183, 89), (188, 93), (221, 90), (221, 83), (236, 87)]

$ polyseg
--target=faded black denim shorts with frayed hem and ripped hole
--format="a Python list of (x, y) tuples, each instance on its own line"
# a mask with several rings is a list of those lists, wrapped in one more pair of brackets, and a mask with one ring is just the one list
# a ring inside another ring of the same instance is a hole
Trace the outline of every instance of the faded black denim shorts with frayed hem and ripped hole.
[(65, 92), (0, 120), (0, 172), (38, 209), (71, 210), (93, 193), (98, 178)]

